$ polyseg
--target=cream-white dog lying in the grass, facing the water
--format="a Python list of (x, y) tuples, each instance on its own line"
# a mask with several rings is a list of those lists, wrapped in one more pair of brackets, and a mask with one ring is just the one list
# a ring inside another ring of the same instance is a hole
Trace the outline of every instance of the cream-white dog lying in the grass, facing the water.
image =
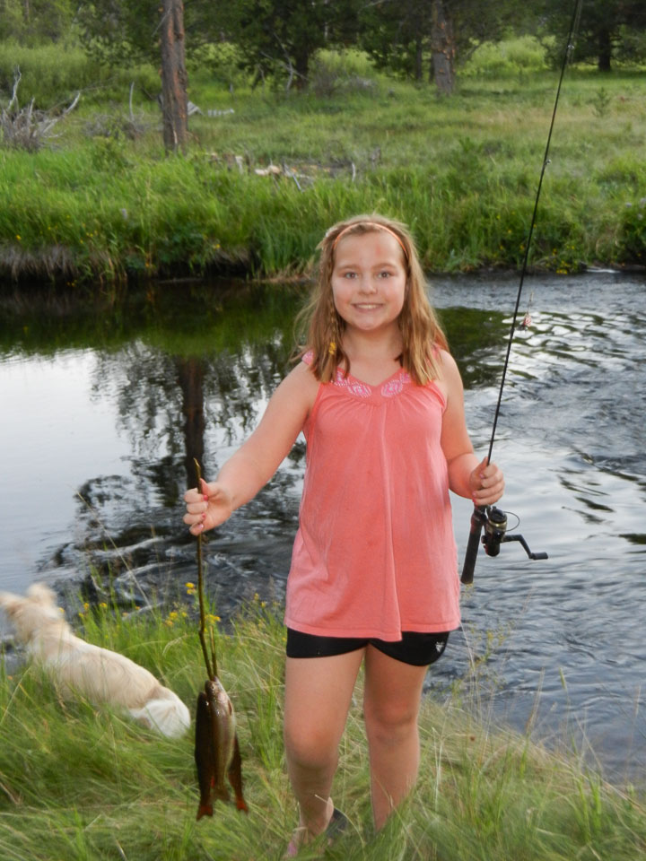
[(190, 715), (177, 694), (130, 658), (75, 637), (48, 587), (36, 583), (24, 597), (0, 592), (0, 607), (63, 697), (76, 692), (95, 705), (125, 709), (162, 735), (176, 737), (188, 729)]

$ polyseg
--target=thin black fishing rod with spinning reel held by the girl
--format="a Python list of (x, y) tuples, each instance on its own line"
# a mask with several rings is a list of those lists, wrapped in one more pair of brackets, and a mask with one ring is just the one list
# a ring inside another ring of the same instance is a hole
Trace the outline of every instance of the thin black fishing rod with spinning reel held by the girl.
[[(574, 4), (574, 9), (572, 11), (572, 20), (570, 22), (570, 30), (568, 32), (567, 46), (565, 48), (565, 51), (563, 52), (561, 75), (559, 77), (558, 87), (556, 88), (554, 109), (552, 110), (552, 121), (550, 122), (549, 133), (547, 135), (546, 149), (543, 156), (543, 166), (541, 168), (540, 177), (538, 179), (537, 194), (534, 201), (534, 212), (532, 213), (531, 222), (529, 224), (528, 239), (525, 244), (525, 255), (523, 257), (522, 266), (520, 268), (519, 289), (516, 296), (516, 306), (514, 308), (513, 317), (511, 319), (510, 334), (507, 340), (507, 352), (505, 354), (505, 360), (502, 366), (502, 378), (500, 389), (498, 391), (498, 402), (496, 404), (495, 413), (493, 414), (493, 427), (491, 439), (489, 440), (487, 463), (491, 463), (493, 439), (495, 438), (496, 427), (498, 425), (498, 417), (501, 411), (502, 390), (504, 389), (505, 378), (507, 377), (507, 368), (509, 366), (511, 344), (513, 343), (513, 336), (516, 330), (516, 320), (518, 319), (520, 307), (520, 295), (522, 293), (523, 283), (525, 281), (525, 274), (527, 273), (529, 246), (531, 244), (532, 235), (534, 233), (534, 226), (536, 224), (538, 201), (540, 199), (541, 189), (543, 187), (543, 178), (545, 177), (547, 165), (550, 163), (549, 149), (550, 143), (552, 143), (552, 132), (554, 131), (556, 109), (558, 108), (559, 98), (561, 96), (561, 86), (563, 84), (565, 69), (568, 65), (570, 58), (572, 57), (572, 51), (574, 50), (574, 33), (579, 28), (579, 20), (581, 18), (581, 4), (582, 0), (576, 0)], [(483, 529), (485, 530), (485, 535), (482, 535)], [(497, 509), (493, 505), (474, 506), (473, 514), (471, 515), (471, 527), (469, 530), (469, 537), (467, 542), (467, 552), (465, 552), (465, 560), (462, 566), (462, 576), (460, 578), (461, 582), (465, 585), (473, 583), (474, 570), (476, 569), (476, 557), (480, 544), (483, 544), (483, 546), (485, 547), (485, 553), (487, 554), (487, 556), (497, 556), (500, 552), (500, 545), (503, 542), (509, 541), (518, 541), (519, 544), (524, 548), (525, 552), (528, 554), (529, 559), (547, 559), (547, 553), (531, 552), (529, 550), (528, 543), (525, 541), (522, 535), (507, 535), (507, 515), (504, 511), (502, 511), (501, 509)]]

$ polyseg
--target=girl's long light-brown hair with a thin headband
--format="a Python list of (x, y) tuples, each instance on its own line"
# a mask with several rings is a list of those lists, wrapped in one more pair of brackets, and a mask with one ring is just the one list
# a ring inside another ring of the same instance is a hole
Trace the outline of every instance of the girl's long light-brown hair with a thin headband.
[(426, 279), (413, 238), (404, 224), (379, 214), (356, 215), (338, 222), (319, 242), (319, 277), (308, 305), (297, 318), (302, 329), (307, 331), (306, 346), (299, 355), (313, 352), (310, 367), (323, 383), (336, 378), (336, 369), (341, 365), (348, 373), (350, 362), (341, 345), (345, 321), (336, 310), (332, 294), (336, 243), (341, 234), (345, 238), (376, 230), (392, 234), (404, 254), (406, 298), (397, 318), (404, 344), (401, 361), (415, 383), (424, 386), (440, 376), (438, 349), (448, 349), (446, 335), (426, 296)]

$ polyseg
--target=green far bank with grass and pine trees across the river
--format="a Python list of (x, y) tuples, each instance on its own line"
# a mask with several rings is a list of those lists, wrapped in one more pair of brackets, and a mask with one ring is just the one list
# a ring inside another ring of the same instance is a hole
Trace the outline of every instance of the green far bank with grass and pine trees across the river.
[(284, 278), (375, 210), (518, 268), (579, 5), (530, 265), (641, 267), (639, 0), (0, 0), (0, 276)]

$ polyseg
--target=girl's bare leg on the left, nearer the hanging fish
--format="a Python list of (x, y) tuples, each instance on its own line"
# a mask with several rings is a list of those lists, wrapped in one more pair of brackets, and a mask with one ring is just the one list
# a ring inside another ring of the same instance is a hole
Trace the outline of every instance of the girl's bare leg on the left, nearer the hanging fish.
[(287, 771), (307, 843), (327, 827), (329, 796), (363, 649), (335, 657), (288, 657), (285, 664), (284, 740)]

